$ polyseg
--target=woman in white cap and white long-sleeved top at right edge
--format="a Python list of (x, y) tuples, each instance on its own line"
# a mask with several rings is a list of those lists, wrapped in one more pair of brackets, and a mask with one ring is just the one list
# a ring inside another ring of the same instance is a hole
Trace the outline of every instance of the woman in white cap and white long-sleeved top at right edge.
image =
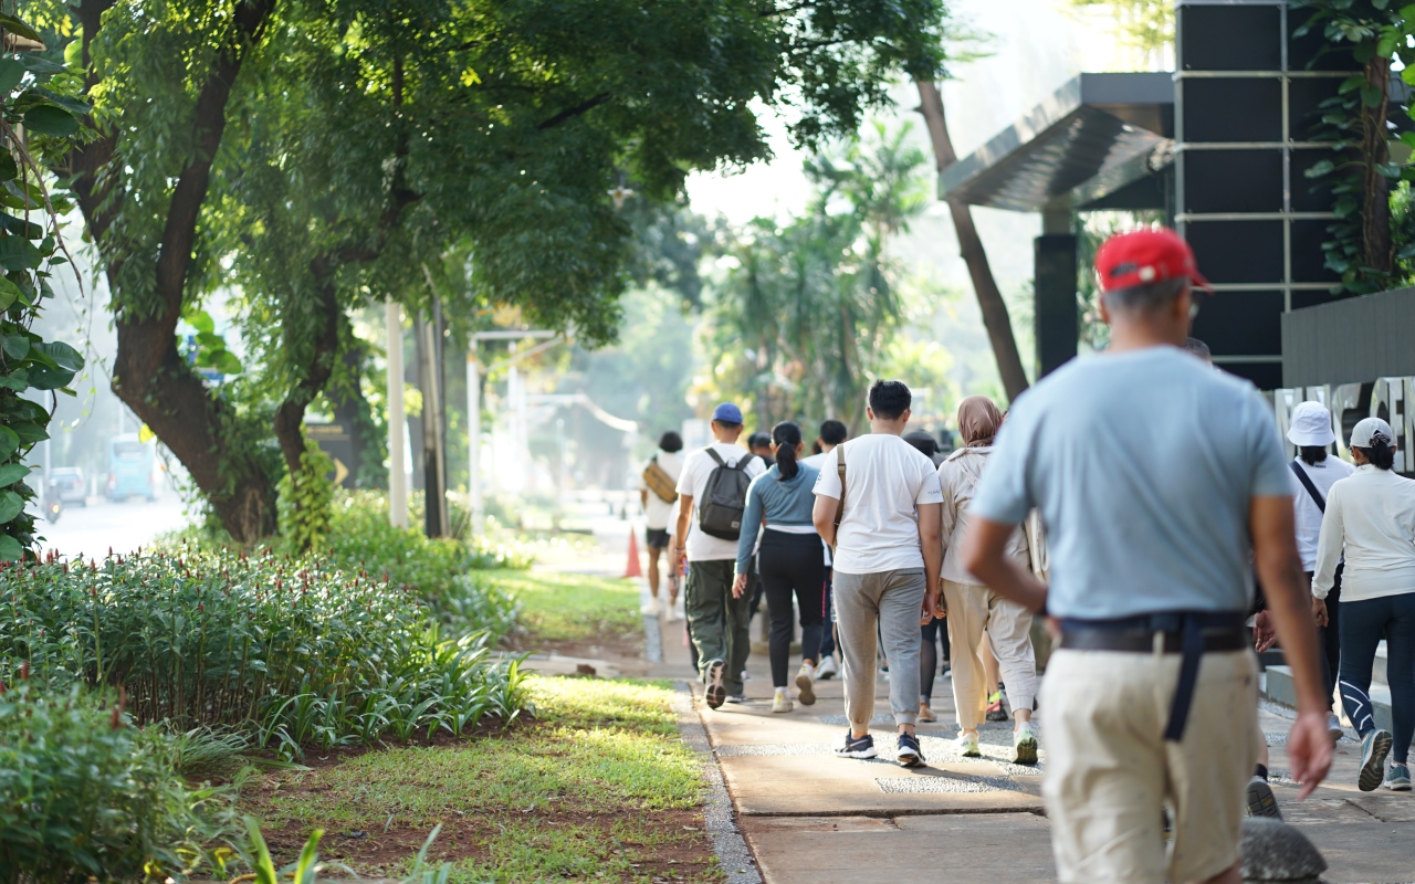
[[(1317, 624), (1326, 625), (1326, 597), (1346, 554), (1337, 685), (1346, 714), (1361, 735), (1357, 784), (1363, 792), (1378, 785), (1411, 788), (1407, 762), (1415, 731), (1415, 482), (1391, 472), (1394, 438), (1391, 426), (1378, 417), (1367, 417), (1351, 430), (1356, 474), (1332, 485), (1327, 495), (1312, 577), (1313, 611)], [(1368, 693), (1382, 638), (1390, 655), (1394, 734), (1375, 726)]]

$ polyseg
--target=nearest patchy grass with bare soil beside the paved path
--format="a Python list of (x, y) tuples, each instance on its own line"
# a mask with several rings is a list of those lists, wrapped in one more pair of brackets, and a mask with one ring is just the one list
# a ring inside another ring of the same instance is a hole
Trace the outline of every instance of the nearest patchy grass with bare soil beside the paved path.
[[(637, 615), (637, 612), (635, 612)], [(451, 883), (722, 881), (703, 778), (668, 683), (533, 677), (536, 719), (507, 734), (279, 771), (248, 791), (280, 861), (313, 829), (321, 856), (396, 876), (432, 829)]]

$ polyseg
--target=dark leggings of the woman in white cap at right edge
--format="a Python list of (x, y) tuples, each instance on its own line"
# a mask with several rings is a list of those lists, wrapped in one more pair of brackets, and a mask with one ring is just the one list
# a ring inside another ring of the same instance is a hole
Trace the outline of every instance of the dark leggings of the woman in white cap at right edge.
[(1375, 730), (1368, 692), (1382, 638), (1395, 731), (1391, 761), (1405, 764), (1415, 733), (1415, 593), (1341, 603), (1341, 703), (1361, 737)]

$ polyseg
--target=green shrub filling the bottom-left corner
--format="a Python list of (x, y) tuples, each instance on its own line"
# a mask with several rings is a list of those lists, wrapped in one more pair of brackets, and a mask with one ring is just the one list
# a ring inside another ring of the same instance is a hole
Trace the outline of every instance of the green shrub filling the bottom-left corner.
[(225, 873), (233, 786), (190, 788), (167, 737), (78, 686), (0, 694), (0, 881), (69, 884)]

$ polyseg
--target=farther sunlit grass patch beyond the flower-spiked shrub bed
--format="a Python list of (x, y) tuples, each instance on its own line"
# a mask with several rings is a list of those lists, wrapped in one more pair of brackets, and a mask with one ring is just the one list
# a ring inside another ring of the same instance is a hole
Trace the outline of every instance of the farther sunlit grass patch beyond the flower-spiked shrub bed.
[(519, 645), (641, 644), (644, 621), (631, 580), (555, 571), (485, 571), (521, 603)]

